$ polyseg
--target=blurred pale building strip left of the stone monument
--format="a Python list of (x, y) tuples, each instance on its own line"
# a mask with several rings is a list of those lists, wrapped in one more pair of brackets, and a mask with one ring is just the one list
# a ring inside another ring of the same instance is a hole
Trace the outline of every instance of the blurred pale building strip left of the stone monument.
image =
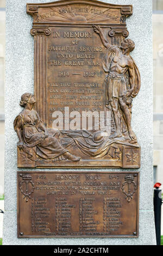
[(4, 193), (5, 0), (0, 0), (0, 196)]

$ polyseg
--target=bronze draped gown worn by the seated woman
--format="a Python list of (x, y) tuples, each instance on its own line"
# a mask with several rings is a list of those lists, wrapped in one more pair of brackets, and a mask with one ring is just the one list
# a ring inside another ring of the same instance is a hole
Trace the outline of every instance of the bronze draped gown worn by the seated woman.
[(55, 138), (58, 136), (58, 131), (47, 129), (48, 136), (45, 137), (45, 132), (42, 131), (41, 126), (43, 121), (40, 119), (39, 114), (33, 109), (23, 109), (14, 120), (14, 129), (17, 128), (17, 120), (21, 120), (21, 133), (23, 139), (23, 151), (26, 151), (31, 160), (31, 148), (35, 151), (37, 156), (42, 159), (54, 159), (66, 153), (68, 150), (63, 148), (59, 140)]

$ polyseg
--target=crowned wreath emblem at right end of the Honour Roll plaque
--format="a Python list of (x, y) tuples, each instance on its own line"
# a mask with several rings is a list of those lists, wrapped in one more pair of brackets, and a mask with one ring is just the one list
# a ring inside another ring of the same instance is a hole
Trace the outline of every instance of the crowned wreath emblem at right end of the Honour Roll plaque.
[[(124, 180), (125, 181), (122, 184), (122, 192), (126, 195), (127, 201), (130, 202), (130, 200), (133, 199), (133, 195), (135, 194), (135, 192), (137, 190), (137, 186), (135, 184), (134, 177), (131, 174), (127, 174), (125, 176)], [(127, 185), (127, 186), (125, 186), (125, 185)]]

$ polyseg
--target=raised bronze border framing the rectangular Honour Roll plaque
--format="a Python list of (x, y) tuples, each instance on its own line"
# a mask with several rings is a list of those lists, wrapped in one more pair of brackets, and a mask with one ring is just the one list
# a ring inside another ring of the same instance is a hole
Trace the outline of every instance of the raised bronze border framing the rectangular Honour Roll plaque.
[[(137, 225), (136, 225), (136, 235), (110, 235), (110, 236), (23, 236), (20, 234), (20, 222), (19, 222), (19, 197), (18, 197), (18, 190), (19, 190), (19, 186), (18, 186), (18, 179), (19, 179), (19, 174), (21, 173), (87, 173), (87, 174), (103, 174), (103, 173), (108, 173), (108, 174), (137, 174)], [(57, 172), (57, 171), (27, 171), (27, 172), (21, 172), (21, 171), (17, 171), (17, 237), (18, 238), (138, 238), (139, 237), (139, 188), (140, 188), (140, 172), (96, 172), (96, 171), (91, 171), (91, 172), (86, 172), (86, 171), (65, 171), (65, 172)]]

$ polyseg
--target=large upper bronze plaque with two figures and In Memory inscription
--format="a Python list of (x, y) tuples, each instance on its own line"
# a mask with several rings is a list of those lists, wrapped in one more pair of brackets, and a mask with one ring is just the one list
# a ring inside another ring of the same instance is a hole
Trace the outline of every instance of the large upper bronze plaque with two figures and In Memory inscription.
[(34, 95), (14, 121), (18, 167), (140, 168), (131, 109), (140, 74), (126, 19), (132, 5), (90, 0), (27, 4)]

